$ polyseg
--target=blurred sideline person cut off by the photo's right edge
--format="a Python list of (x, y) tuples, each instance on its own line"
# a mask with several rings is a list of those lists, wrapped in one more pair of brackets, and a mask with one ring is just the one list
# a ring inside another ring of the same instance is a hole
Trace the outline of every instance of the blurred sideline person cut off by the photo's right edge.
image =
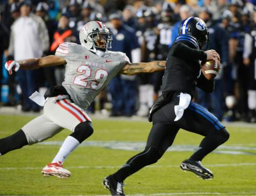
[(253, 13), (253, 24), (245, 34), (243, 61), (248, 66), (248, 108), (249, 121), (256, 121), (256, 11)]

